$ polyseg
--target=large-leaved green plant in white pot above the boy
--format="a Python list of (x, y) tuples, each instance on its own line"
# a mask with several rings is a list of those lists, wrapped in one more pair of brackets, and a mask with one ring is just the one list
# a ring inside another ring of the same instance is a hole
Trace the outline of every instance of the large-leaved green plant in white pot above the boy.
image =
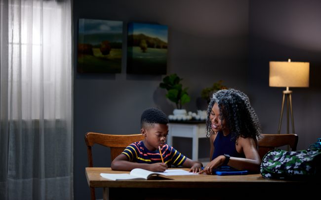
[[(188, 88), (183, 89), (182, 84), (180, 83), (181, 80), (183, 79), (177, 76), (176, 73), (174, 73), (165, 76), (160, 83), (160, 88), (167, 90), (166, 97), (168, 98), (168, 100), (174, 102), (176, 104), (176, 108), (179, 110), (182, 110), (182, 106), (185, 103), (190, 102), (191, 100), (190, 96), (187, 93)], [(174, 114), (175, 112), (179, 112), (177, 109), (174, 110)]]

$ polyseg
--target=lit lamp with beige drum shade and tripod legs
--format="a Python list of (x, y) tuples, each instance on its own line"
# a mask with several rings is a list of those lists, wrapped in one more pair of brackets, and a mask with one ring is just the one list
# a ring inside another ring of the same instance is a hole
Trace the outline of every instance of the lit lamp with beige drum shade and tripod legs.
[[(291, 112), (291, 124), (292, 133), (294, 134), (294, 122), (293, 122), (293, 111), (292, 111), (292, 91), (289, 87), (309, 87), (309, 63), (304, 62), (270, 62), (270, 87), (286, 87), (283, 91), (283, 100), (281, 106), (281, 116), (279, 122), (278, 134), (281, 131), (281, 122), (283, 116), (284, 100), (286, 97), (286, 116), (287, 116), (287, 127), (286, 133), (289, 133), (289, 110)], [(290, 109), (289, 109), (290, 107)]]

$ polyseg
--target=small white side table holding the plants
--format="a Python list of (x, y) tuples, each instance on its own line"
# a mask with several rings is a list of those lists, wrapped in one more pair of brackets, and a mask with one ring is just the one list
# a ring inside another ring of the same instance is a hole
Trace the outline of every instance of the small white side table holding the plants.
[(198, 161), (199, 157), (199, 138), (206, 137), (205, 122), (170, 122), (168, 124), (168, 135), (166, 143), (172, 146), (173, 136), (192, 138), (192, 160)]

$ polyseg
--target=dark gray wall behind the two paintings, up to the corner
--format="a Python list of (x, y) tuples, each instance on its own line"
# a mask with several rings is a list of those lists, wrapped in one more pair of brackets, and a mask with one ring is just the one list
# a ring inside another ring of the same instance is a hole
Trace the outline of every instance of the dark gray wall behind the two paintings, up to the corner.
[[(191, 102), (184, 108), (196, 112), (201, 89), (220, 79), (246, 92), (248, 81), (248, 0), (77, 0), (74, 1), (74, 188), (75, 199), (88, 199), (84, 175), (87, 166), (84, 134), (140, 132), (140, 114), (156, 106), (171, 114), (174, 105), (160, 89), (161, 75), (126, 74), (126, 26), (122, 72), (77, 72), (78, 19), (103, 19), (159, 23), (168, 26), (167, 74), (177, 73), (189, 87)], [(203, 142), (202, 146), (207, 146)], [(190, 145), (187, 145), (188, 147)], [(190, 149), (190, 148), (186, 148)], [(178, 149), (184, 153), (186, 149)], [(109, 152), (98, 147), (97, 167), (109, 167)], [(209, 152), (206, 152), (206, 157)], [(187, 155), (188, 156), (188, 155)], [(101, 191), (96, 191), (100, 195)], [(98, 196), (99, 198), (99, 196)]]

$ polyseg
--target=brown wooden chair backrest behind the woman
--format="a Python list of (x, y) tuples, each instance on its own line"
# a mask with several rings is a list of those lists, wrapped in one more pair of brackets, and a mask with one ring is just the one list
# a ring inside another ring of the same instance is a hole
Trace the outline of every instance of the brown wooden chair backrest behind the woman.
[(261, 134), (261, 136), (257, 143), (261, 159), (268, 151), (284, 145), (289, 145), (291, 151), (296, 151), (299, 139), (297, 134)]

